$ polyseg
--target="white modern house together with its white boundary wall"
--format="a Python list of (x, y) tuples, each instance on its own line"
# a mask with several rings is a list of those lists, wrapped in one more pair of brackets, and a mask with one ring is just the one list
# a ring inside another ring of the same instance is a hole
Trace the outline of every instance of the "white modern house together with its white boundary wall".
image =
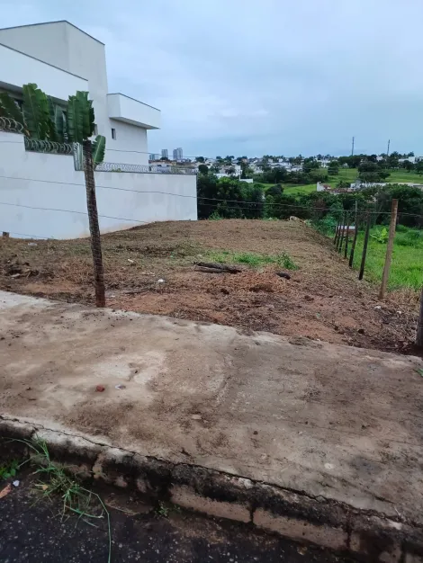
[[(19, 103), (28, 83), (64, 111), (77, 90), (88, 91), (94, 101), (96, 133), (106, 138), (104, 162), (94, 170), (102, 233), (197, 219), (195, 171), (148, 165), (147, 131), (160, 127), (160, 112), (109, 93), (102, 42), (69, 22), (0, 30), (0, 90)], [(1, 230), (11, 237), (88, 236), (85, 175), (76, 147), (28, 139), (21, 124), (3, 118), (0, 143)]]

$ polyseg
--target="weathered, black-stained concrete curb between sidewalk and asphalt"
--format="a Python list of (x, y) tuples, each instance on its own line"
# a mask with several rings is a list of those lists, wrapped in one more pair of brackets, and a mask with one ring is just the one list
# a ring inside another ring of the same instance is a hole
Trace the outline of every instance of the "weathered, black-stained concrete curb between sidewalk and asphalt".
[[(113, 448), (82, 436), (49, 430), (0, 416), (0, 454), (25, 450), (23, 442), (41, 438), (53, 460), (86, 478), (136, 489), (149, 499), (211, 516), (250, 523), (295, 541), (306, 541), (359, 559), (383, 563), (423, 563), (423, 528), (358, 511), (322, 496), (267, 485), (187, 463), (172, 463)], [(26, 448), (29, 452), (29, 448)]]

